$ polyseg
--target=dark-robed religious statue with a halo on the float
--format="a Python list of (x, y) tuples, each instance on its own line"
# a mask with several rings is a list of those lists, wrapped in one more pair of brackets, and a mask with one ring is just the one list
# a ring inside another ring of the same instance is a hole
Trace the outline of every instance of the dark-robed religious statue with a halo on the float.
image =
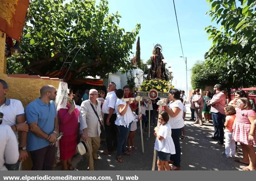
[(166, 72), (165, 72), (165, 64), (163, 62), (164, 56), (161, 53), (162, 46), (160, 44), (156, 44), (153, 50), (153, 56), (151, 59), (151, 68), (150, 68), (150, 76), (151, 79), (157, 80), (165, 80)]

